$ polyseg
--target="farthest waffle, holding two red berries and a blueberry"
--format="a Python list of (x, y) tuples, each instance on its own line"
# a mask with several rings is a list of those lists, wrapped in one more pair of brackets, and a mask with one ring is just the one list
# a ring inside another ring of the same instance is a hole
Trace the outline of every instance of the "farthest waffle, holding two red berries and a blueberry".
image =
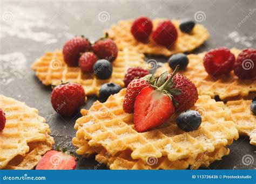
[[(159, 18), (152, 20), (153, 29), (156, 29), (158, 23), (163, 20)], [(130, 48), (144, 54), (170, 56), (174, 53), (193, 51), (210, 36), (207, 29), (200, 24), (194, 26), (192, 33), (183, 33), (179, 30), (179, 20), (172, 20), (178, 31), (178, 39), (170, 49), (167, 49), (164, 46), (158, 46), (151, 38), (147, 44), (134, 39), (130, 31), (132, 23), (133, 20), (120, 20), (117, 25), (112, 25), (109, 30), (106, 30), (109, 37), (114, 40), (121, 50)]]

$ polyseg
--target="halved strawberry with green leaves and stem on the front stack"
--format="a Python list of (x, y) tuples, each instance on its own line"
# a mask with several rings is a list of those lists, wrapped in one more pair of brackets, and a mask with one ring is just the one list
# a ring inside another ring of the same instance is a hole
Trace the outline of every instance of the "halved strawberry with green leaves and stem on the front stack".
[(179, 89), (172, 88), (172, 79), (177, 70), (178, 67), (168, 80), (167, 72), (163, 73), (154, 84), (143, 88), (137, 95), (134, 102), (134, 125), (138, 132), (156, 128), (173, 115), (177, 104), (172, 95), (181, 93)]

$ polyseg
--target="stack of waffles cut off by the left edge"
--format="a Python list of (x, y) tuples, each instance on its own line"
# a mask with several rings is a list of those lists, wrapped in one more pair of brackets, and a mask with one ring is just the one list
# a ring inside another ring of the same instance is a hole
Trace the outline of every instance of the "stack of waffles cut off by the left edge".
[(6, 124), (0, 132), (0, 169), (32, 169), (54, 144), (50, 129), (38, 110), (0, 95)]

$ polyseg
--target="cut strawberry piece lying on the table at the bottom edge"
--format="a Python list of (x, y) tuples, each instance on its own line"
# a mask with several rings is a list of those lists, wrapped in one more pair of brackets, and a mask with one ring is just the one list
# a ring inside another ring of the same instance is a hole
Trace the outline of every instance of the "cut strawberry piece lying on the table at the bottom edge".
[(61, 151), (50, 150), (39, 161), (36, 170), (50, 169), (75, 169), (76, 160), (72, 155), (65, 154)]

